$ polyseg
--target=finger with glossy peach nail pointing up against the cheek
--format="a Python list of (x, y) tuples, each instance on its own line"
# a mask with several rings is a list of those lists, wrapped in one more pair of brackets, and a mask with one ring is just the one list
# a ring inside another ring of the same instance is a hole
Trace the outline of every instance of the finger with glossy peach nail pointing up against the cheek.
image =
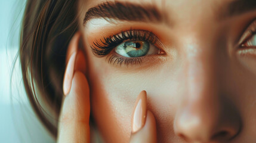
[(156, 121), (153, 113), (146, 108), (146, 91), (137, 98), (132, 116), (132, 133), (130, 143), (156, 143)]

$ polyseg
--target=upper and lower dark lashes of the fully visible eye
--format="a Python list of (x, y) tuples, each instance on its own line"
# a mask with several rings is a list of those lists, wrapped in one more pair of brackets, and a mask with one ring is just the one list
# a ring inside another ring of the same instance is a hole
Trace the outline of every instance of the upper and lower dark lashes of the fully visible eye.
[[(93, 54), (97, 57), (105, 57), (106, 55), (109, 55), (110, 52), (112, 52), (113, 49), (116, 48), (116, 46), (120, 45), (122, 42), (125, 41), (147, 41), (155, 45), (155, 43), (159, 40), (152, 32), (146, 30), (128, 30), (123, 31), (118, 35), (109, 36), (108, 38), (103, 38), (103, 40), (93, 42), (91, 49)], [(116, 54), (112, 54), (107, 61), (110, 64), (119, 65), (140, 64), (145, 57), (147, 56), (125, 58)]]

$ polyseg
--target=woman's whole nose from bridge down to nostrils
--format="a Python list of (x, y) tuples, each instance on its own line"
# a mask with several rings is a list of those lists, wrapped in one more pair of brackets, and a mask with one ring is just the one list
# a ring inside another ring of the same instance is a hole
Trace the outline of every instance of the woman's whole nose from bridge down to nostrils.
[(230, 125), (233, 115), (228, 117), (223, 113), (226, 105), (218, 88), (221, 64), (217, 63), (215, 48), (195, 43), (187, 44), (184, 52), (186, 92), (175, 116), (174, 130), (189, 141), (209, 142), (216, 138), (227, 141), (238, 132), (239, 125), (238, 122)]

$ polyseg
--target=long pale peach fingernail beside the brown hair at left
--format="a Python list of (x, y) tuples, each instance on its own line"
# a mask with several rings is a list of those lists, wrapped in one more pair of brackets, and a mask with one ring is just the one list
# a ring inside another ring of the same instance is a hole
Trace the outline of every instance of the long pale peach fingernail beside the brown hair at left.
[(76, 52), (74, 52), (67, 62), (67, 67), (64, 74), (64, 80), (63, 80), (63, 93), (64, 95), (69, 94), (72, 78), (74, 74), (74, 68), (75, 68), (75, 60), (76, 60)]

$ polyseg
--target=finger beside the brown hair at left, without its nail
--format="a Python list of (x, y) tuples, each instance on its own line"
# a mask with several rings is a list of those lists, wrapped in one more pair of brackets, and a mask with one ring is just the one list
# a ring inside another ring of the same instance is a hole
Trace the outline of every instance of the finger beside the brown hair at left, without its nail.
[(60, 143), (90, 142), (90, 97), (87, 79), (75, 71), (69, 94), (64, 98), (58, 126)]

